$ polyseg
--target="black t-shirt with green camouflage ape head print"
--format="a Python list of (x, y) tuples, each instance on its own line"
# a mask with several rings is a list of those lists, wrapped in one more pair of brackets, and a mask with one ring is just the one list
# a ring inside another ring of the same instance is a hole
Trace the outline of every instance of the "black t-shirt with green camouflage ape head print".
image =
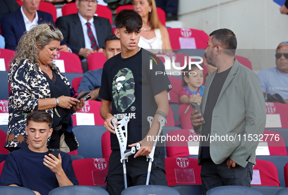
[[(154, 55), (144, 49), (129, 58), (122, 58), (119, 53), (103, 67), (99, 96), (112, 102), (112, 115), (118, 121), (125, 116), (130, 118), (127, 146), (143, 139), (141, 131), (147, 135), (150, 129), (147, 116), (154, 117), (157, 110), (154, 95), (172, 88), (160, 60), (158, 65), (153, 61), (150, 70), (150, 56)], [(163, 74), (156, 75), (156, 71)], [(111, 134), (111, 149), (119, 149), (115, 134)]]

